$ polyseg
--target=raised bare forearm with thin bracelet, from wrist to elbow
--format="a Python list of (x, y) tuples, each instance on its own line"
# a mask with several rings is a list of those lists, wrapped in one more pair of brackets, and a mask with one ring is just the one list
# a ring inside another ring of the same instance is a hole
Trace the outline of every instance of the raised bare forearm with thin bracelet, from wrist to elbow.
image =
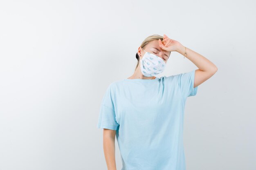
[[(180, 45), (177, 52), (184, 55), (185, 46)], [(200, 70), (209, 71), (209, 72), (217, 71), (218, 68), (216, 67), (216, 65), (214, 65), (210, 60), (208, 60), (206, 57), (202, 56), (201, 54), (187, 47), (186, 47), (186, 53), (187, 55), (184, 55), (184, 56), (187, 57), (191, 62), (193, 62)]]

